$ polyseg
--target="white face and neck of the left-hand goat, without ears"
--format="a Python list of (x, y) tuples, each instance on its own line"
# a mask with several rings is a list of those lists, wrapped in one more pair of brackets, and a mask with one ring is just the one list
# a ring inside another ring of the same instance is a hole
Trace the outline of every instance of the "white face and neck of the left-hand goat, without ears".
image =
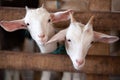
[[(44, 45), (44, 43), (55, 34), (55, 30), (50, 19), (50, 14), (44, 8), (38, 8), (36, 10), (27, 9), (27, 14), (24, 18), (25, 23), (29, 23), (28, 30), (32, 38), (38, 44), (41, 53), (49, 53), (56, 49), (56, 43), (50, 45)], [(44, 38), (39, 36), (45, 35)], [(51, 47), (52, 45), (52, 47)]]

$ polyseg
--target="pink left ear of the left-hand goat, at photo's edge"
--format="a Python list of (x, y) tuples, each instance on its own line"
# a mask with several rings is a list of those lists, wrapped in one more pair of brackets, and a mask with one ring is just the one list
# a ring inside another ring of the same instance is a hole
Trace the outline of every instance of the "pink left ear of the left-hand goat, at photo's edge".
[(12, 32), (18, 29), (26, 29), (26, 25), (24, 23), (24, 20), (14, 20), (14, 21), (1, 21), (0, 25), (3, 29), (6, 31)]

